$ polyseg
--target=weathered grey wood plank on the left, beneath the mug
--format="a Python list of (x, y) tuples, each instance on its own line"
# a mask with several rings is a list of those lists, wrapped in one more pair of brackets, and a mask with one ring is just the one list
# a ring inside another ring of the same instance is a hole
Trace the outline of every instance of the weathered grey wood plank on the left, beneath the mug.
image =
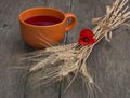
[[(18, 14), (21, 11), (34, 6), (58, 8), (65, 12), (69, 10), (69, 0), (2, 0), (0, 3), (0, 98), (57, 98), (58, 84), (49, 87), (32, 89), (32, 86), (26, 87), (28, 79), (22, 79), (26, 70), (12, 70), (14, 66), (21, 66), (17, 56), (32, 51), (21, 38), (18, 29)], [(64, 42), (64, 41), (63, 41)]]

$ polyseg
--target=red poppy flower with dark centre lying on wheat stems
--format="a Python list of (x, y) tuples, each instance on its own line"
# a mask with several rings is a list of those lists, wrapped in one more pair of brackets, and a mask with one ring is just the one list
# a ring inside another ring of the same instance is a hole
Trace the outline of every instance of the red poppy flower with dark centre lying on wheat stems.
[(80, 32), (80, 37), (79, 37), (78, 43), (80, 45), (90, 45), (90, 44), (93, 44), (93, 43), (96, 42), (96, 39), (93, 38), (93, 37), (94, 37), (94, 34), (93, 34), (92, 30), (90, 30), (90, 29), (83, 29)]

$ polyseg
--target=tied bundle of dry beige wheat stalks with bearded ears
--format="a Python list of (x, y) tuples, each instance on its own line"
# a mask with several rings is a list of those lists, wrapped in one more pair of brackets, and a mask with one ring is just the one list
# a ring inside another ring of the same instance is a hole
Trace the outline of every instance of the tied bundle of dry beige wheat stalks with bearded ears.
[[(129, 24), (126, 23), (126, 20), (130, 18), (130, 11), (128, 11), (129, 6), (127, 5), (127, 2), (128, 0), (115, 0), (112, 6), (106, 6), (106, 14), (103, 17), (92, 19), (92, 23), (96, 24), (95, 28), (92, 29), (94, 38), (98, 39), (96, 43), (104, 37), (106, 41), (110, 42), (112, 31), (114, 29), (122, 25), (129, 26)], [(38, 60), (37, 64), (29, 69), (29, 73), (43, 70), (42, 78), (39, 78), (38, 80), (42, 82), (42, 85), (49, 84), (52, 81), (61, 81), (66, 78), (69, 80), (69, 84), (65, 89), (66, 92), (77, 74), (80, 73), (91, 94), (93, 84), (96, 88), (99, 87), (88, 72), (86, 60), (96, 43), (89, 46), (82, 46), (78, 43), (52, 46), (42, 51), (26, 54), (21, 60), (32, 61), (48, 55), (47, 58)], [(73, 79), (70, 79), (70, 73), (74, 74)]]

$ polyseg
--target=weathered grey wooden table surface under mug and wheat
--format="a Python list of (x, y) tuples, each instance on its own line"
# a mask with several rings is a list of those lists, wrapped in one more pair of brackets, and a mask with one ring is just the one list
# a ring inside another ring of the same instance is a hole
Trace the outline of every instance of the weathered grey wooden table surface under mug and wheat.
[[(20, 33), (18, 14), (34, 6), (52, 6), (77, 16), (77, 26), (65, 34), (63, 44), (76, 42), (82, 28), (93, 28), (91, 19), (105, 14), (114, 0), (0, 0), (0, 98), (87, 98), (82, 81), (77, 78), (63, 95), (64, 85), (55, 83), (37, 89), (26, 88), (26, 69), (17, 57), (32, 51)], [(130, 2), (129, 2), (130, 5)], [(112, 42), (104, 39), (94, 47), (88, 68), (104, 94), (94, 98), (130, 98), (130, 28), (114, 31)], [(23, 65), (24, 66), (24, 65)], [(64, 83), (62, 83), (64, 84)]]

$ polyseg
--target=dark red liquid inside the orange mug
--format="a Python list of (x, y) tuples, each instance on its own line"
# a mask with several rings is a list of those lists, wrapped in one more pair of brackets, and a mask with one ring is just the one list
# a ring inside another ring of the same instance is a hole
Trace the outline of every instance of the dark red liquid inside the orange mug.
[(54, 16), (34, 16), (27, 18), (25, 23), (37, 26), (49, 26), (61, 23), (62, 20)]

